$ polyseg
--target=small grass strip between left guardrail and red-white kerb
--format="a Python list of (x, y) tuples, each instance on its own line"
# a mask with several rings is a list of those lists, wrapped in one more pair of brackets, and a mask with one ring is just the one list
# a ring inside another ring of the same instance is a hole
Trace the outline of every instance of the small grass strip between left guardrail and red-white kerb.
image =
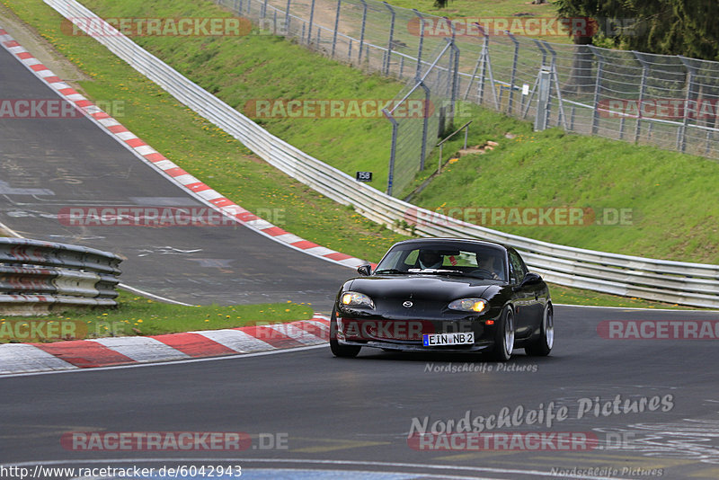
[[(100, 338), (108, 336), (158, 335), (163, 333), (191, 332), (195, 330), (217, 330), (254, 324), (274, 324), (312, 317), (310, 304), (261, 304), (231, 305), (221, 307), (183, 307), (137, 297), (129, 292), (120, 291), (118, 307), (102, 310), (68, 310), (62, 314), (49, 316), (6, 316), (0, 318), (0, 342), (27, 342), (27, 339), (15, 337), (9, 333), (25, 334), (27, 329), (10, 327), (5, 324), (15, 322), (43, 322), (62, 324), (79, 322), (71, 327), (75, 334), (72, 338), (40, 338), (30, 342), (75, 340), (80, 338)], [(58, 330), (59, 330), (58, 326)], [(45, 332), (45, 331), (42, 331)]]

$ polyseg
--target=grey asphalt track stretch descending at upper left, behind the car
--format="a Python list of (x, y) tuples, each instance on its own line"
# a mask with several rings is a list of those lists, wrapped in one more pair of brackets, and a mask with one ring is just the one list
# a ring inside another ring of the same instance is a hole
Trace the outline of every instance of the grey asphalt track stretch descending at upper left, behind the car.
[[(0, 49), (0, 98), (58, 96)], [(0, 118), (0, 146), (0, 222), (29, 238), (120, 253), (121, 280), (135, 288), (190, 304), (293, 300), (328, 312), (353, 274), (243, 226), (62, 225), (68, 207), (204, 206), (85, 118)]]

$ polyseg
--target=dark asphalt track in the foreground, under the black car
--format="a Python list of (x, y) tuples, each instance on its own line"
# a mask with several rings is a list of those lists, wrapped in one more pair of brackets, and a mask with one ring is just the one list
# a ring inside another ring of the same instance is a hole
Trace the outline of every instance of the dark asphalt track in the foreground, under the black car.
[[(5, 464), (33, 466), (63, 460), (65, 467), (233, 464), (244, 468), (246, 478), (278, 477), (276, 471), (262, 476), (254, 468), (382, 472), (377, 478), (536, 478), (550, 477), (552, 468), (573, 467), (661, 468), (665, 478), (716, 478), (716, 342), (608, 340), (597, 333), (599, 322), (607, 319), (648, 318), (696, 321), (716, 315), (557, 307), (552, 355), (532, 359), (519, 352), (501, 371), (500, 365), (476, 357), (363, 351), (357, 359), (341, 360), (323, 347), (0, 378), (2, 457)], [(467, 366), (475, 371), (461, 371)], [(452, 373), (452, 367), (460, 371)], [(440, 368), (449, 371), (436, 371)], [(671, 396), (670, 408), (595, 416), (595, 397), (605, 403), (617, 395), (623, 401)], [(578, 419), (588, 401), (590, 412)], [(564, 421), (547, 427), (520, 420), (501, 431), (593, 432), (599, 448), (417, 451), (406, 440), (414, 417), (447, 421), (469, 411), (474, 419), (502, 407), (546, 410), (550, 402), (567, 406)], [(70, 431), (242, 431), (253, 437), (253, 448), (75, 451), (60, 443)], [(260, 436), (264, 446), (274, 439), (282, 448), (261, 449)], [(223, 458), (235, 460), (220, 462)], [(295, 471), (288, 477), (339, 477), (303, 475)]]

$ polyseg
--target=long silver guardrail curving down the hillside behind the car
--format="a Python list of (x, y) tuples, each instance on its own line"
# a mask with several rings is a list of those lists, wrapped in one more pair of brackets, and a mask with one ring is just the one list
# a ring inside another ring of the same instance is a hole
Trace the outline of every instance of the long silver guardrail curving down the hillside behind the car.
[[(75, 0), (45, 2), (71, 21), (73, 18), (97, 18)], [(78, 27), (83, 28), (90, 22), (78, 23)], [(112, 27), (108, 24), (106, 28)], [(524, 254), (533, 271), (559, 285), (694, 307), (719, 307), (719, 265), (671, 262), (548, 244), (419, 209), (355, 182), (346, 173), (271, 135), (119, 32), (108, 35), (105, 28), (98, 30), (105, 35), (95, 37), (95, 40), (178, 101), (224, 129), (269, 164), (332, 200), (352, 205), (371, 220), (388, 226), (400, 226), (405, 222), (422, 236), (480, 238), (510, 244)]]

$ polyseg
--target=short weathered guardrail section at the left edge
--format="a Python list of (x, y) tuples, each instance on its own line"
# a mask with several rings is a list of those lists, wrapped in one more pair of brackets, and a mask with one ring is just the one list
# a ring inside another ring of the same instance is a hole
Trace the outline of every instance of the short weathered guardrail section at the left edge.
[(120, 262), (86, 246), (0, 238), (0, 313), (117, 305)]

